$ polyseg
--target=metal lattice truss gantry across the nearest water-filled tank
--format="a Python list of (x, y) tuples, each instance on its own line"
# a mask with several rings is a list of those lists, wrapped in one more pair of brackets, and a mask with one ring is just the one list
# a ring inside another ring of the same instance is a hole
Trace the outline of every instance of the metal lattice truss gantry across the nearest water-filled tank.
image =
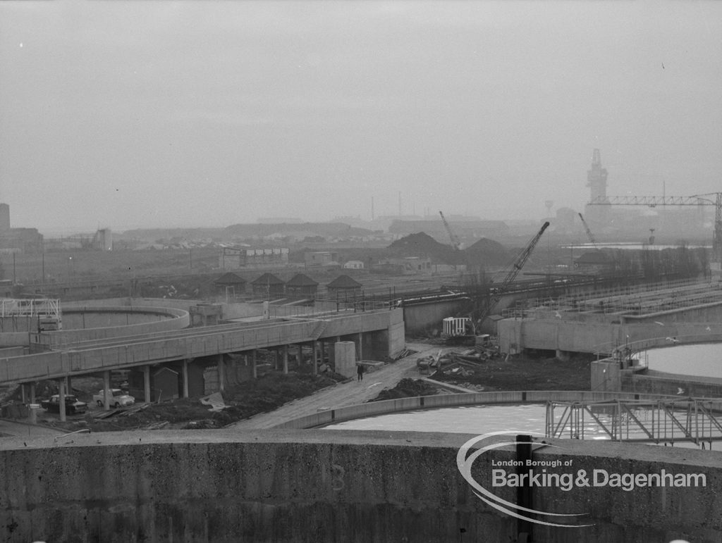
[(681, 441), (712, 448), (722, 441), (722, 399), (547, 402), (549, 438), (635, 443)]

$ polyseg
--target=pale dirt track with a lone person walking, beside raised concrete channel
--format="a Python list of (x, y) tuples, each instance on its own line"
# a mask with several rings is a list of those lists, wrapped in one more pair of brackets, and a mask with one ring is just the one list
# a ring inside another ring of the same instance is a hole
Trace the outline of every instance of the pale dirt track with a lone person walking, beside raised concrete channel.
[(396, 384), (410, 377), (419, 379), (419, 371), (416, 367), (416, 360), (421, 356), (438, 353), (438, 345), (427, 345), (424, 343), (406, 343), (406, 348), (417, 351), (416, 353), (401, 358), (401, 360), (386, 364), (383, 368), (364, 375), (363, 381), (354, 379), (348, 383), (339, 383), (334, 387), (319, 390), (305, 398), (295, 399), (292, 402), (279, 407), (279, 409), (267, 413), (261, 413), (246, 420), (230, 425), (228, 428), (238, 430), (258, 430), (271, 428), (287, 420), (313, 415), (319, 409), (336, 409), (347, 405), (357, 405), (373, 399), (383, 389), (395, 387)]

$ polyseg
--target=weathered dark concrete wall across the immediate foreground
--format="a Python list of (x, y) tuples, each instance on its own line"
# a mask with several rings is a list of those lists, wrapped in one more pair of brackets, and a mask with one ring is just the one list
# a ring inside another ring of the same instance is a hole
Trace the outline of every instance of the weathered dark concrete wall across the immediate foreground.
[[(479, 500), (458, 472), (456, 454), (469, 438), (161, 431), (4, 441), (0, 529), (10, 543), (517, 541), (516, 519)], [(566, 471), (575, 473), (703, 474), (705, 487), (537, 487), (535, 508), (580, 514), (561, 522), (593, 526), (534, 525), (535, 541), (722, 538), (719, 452), (553, 443), (560, 448), (541, 448), (534, 459), (570, 462)], [(495, 465), (515, 458), (510, 448), (489, 451), (471, 473), (516, 503), (516, 488), (494, 488), (491, 480)]]

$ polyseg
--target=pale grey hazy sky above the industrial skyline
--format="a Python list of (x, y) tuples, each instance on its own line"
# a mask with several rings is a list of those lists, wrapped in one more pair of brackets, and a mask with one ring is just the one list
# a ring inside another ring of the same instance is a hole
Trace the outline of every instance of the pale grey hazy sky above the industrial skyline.
[(722, 2), (3, 1), (0, 200), (43, 233), (722, 190)]

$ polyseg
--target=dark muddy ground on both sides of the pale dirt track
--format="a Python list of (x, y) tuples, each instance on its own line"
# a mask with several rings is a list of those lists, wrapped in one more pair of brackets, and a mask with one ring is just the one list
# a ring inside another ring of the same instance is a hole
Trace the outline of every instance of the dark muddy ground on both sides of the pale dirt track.
[[(578, 357), (570, 361), (543, 356), (513, 357), (505, 360), (495, 358), (453, 369), (453, 365), (430, 376), (437, 381), (456, 384), (470, 390), (588, 390), (590, 387), (589, 365), (592, 357)], [(142, 410), (118, 410), (113, 416), (100, 419), (104, 412), (92, 405), (90, 393), (74, 390), (79, 399), (87, 401), (90, 412), (86, 415), (69, 417), (61, 423), (57, 415), (40, 412), (40, 422), (58, 428), (77, 430), (90, 428), (91, 431), (134, 430), (139, 428), (222, 428), (261, 412), (269, 412), (290, 402), (305, 397), (317, 390), (331, 387), (345, 381), (344, 376), (326, 373), (313, 376), (291, 372), (283, 374), (269, 371), (258, 379), (245, 381), (223, 392), (227, 407), (212, 411), (203, 405), (199, 397), (175, 399), (170, 402), (151, 404)], [(74, 380), (74, 384), (82, 381)], [(97, 383), (89, 385), (89, 390)], [(97, 389), (97, 388), (96, 388)], [(52, 391), (50, 391), (52, 392)], [(393, 399), (435, 394), (435, 387), (421, 379), (402, 379), (396, 387), (380, 391), (375, 400)], [(372, 400), (373, 401), (373, 400)], [(129, 414), (128, 411), (131, 411)]]

